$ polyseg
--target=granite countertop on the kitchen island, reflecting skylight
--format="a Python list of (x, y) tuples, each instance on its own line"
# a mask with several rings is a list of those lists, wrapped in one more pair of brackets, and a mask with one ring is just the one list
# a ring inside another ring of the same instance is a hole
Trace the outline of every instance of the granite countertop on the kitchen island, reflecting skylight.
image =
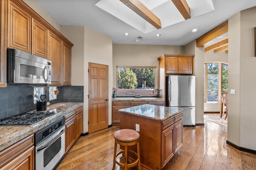
[(154, 119), (158, 121), (165, 121), (178, 113), (181, 113), (183, 109), (165, 107), (165, 106), (155, 106), (150, 104), (144, 104), (140, 106), (128, 107), (125, 109), (120, 109), (123, 113), (128, 113), (131, 115), (136, 115), (140, 117), (146, 117), (149, 119)]

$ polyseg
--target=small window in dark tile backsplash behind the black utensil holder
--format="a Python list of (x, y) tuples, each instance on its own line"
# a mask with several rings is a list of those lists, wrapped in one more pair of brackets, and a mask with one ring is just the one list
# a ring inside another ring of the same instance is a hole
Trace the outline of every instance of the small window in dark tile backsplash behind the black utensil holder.
[[(57, 95), (54, 94), (54, 90), (57, 87), (34, 87), (34, 104), (36, 104), (36, 100), (38, 100), (38, 98), (35, 97), (35, 95), (37, 95), (38, 97), (41, 96), (41, 94), (48, 94), (49, 96), (49, 100), (56, 100), (57, 99)], [(49, 101), (48, 101), (49, 102)]]

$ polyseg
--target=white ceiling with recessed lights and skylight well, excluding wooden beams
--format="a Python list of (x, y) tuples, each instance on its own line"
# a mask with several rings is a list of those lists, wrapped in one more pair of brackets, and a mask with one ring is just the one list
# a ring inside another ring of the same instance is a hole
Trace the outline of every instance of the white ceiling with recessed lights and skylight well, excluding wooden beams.
[[(89, 27), (112, 37), (114, 44), (143, 45), (186, 45), (239, 11), (256, 6), (256, 0), (186, 0), (191, 18), (184, 20), (171, 0), (140, 0), (160, 18), (162, 28), (156, 29), (119, 0), (36, 1), (60, 25)], [(195, 28), (198, 31), (191, 32)], [(135, 41), (136, 37), (146, 40)]]

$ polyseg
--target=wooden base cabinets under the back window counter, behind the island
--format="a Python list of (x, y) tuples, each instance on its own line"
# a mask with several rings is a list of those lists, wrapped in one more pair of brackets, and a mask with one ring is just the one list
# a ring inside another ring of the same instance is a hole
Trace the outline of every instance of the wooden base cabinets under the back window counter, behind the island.
[(112, 102), (112, 125), (118, 126), (120, 123), (120, 111), (119, 109), (125, 109), (127, 107), (139, 106), (142, 104), (152, 104), (158, 106), (164, 106), (164, 101), (126, 101), (126, 102)]

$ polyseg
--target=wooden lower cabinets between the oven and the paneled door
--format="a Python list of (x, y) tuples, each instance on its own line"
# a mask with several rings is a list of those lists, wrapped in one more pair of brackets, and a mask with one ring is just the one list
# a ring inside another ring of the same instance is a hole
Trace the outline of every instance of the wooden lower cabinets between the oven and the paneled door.
[(65, 154), (74, 145), (78, 137), (82, 133), (82, 115), (83, 107), (79, 107), (75, 111), (65, 116)]

